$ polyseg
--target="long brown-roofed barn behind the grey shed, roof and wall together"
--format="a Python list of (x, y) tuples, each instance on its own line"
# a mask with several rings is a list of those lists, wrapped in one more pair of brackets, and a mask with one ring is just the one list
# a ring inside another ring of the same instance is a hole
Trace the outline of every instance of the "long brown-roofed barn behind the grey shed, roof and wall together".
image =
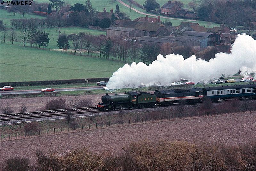
[(143, 31), (143, 36), (150, 37), (156, 37), (156, 35), (162, 30), (167, 31), (165, 26), (161, 23), (150, 23), (131, 20), (120, 20), (117, 27), (136, 28)]

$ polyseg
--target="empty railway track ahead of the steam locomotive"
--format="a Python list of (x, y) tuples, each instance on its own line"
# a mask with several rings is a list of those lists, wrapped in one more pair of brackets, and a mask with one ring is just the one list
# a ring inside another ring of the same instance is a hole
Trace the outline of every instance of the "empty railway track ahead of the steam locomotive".
[(49, 111), (37, 111), (37, 112), (25, 112), (25, 113), (11, 113), (11, 114), (0, 114), (0, 122), (10, 120), (23, 120), (23, 119), (34, 119), (44, 118), (53, 116), (65, 116), (68, 114), (83, 114), (83, 113), (97, 113), (101, 112), (96, 107), (83, 107), (74, 109), (58, 109)]

